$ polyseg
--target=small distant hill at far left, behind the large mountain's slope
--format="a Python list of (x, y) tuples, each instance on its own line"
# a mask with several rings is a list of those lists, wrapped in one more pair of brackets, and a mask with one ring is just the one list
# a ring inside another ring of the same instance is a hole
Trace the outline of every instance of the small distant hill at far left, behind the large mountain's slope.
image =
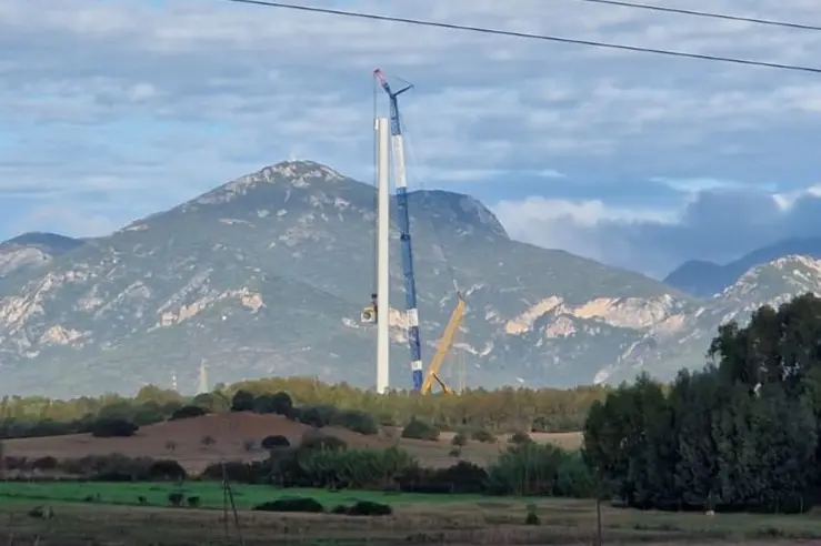
[(23, 233), (0, 243), (0, 277), (17, 271), (40, 267), (54, 256), (70, 252), (83, 244), (82, 240), (57, 233)]

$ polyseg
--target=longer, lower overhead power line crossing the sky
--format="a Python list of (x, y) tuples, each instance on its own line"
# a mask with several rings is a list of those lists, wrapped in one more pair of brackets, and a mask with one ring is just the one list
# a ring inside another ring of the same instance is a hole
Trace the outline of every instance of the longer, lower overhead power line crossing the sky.
[(348, 17), (348, 18), (356, 18), (356, 19), (370, 19), (372, 21), (398, 22), (398, 23), (404, 23), (404, 24), (413, 24), (417, 27), (432, 27), (432, 28), (445, 29), (445, 30), (459, 30), (459, 31), (467, 31), (467, 32), (477, 32), (477, 33), (482, 33), (482, 34), (521, 38), (521, 39), (527, 39), (527, 40), (541, 40), (541, 41), (555, 42), (555, 43), (588, 46), (591, 48), (630, 51), (634, 53), (651, 53), (651, 54), (657, 54), (657, 55), (695, 59), (699, 61), (727, 62), (727, 63), (732, 63), (732, 64), (743, 64), (748, 67), (763, 67), (763, 68), (771, 68), (771, 69), (779, 69), (779, 70), (790, 70), (794, 72), (810, 72), (810, 73), (821, 74), (821, 68), (804, 67), (800, 64), (785, 64), (785, 63), (780, 63), (780, 62), (754, 61), (751, 59), (738, 59), (733, 57), (690, 53), (685, 51), (644, 48), (644, 47), (639, 47), (639, 46), (625, 46), (621, 43), (601, 42), (597, 40), (562, 38), (562, 37), (550, 36), (550, 34), (517, 32), (512, 30), (501, 30), (501, 29), (493, 29), (493, 28), (488, 28), (488, 27), (473, 27), (469, 24), (447, 23), (447, 22), (441, 22), (441, 21), (430, 21), (425, 19), (411, 19), (411, 18), (406, 18), (406, 17), (380, 16), (377, 13), (366, 13), (362, 11), (348, 11), (348, 10), (337, 10), (337, 9), (330, 9), (330, 8), (317, 8), (317, 7), (311, 7), (311, 6), (298, 6), (298, 4), (292, 4), (292, 3), (274, 2), (274, 1), (268, 1), (268, 0), (223, 0), (223, 1), (234, 2), (234, 3), (248, 3), (248, 4), (253, 4), (253, 6), (262, 6), (266, 8), (280, 8), (280, 9), (293, 10), (293, 11), (306, 11), (310, 13), (323, 13), (327, 16)]

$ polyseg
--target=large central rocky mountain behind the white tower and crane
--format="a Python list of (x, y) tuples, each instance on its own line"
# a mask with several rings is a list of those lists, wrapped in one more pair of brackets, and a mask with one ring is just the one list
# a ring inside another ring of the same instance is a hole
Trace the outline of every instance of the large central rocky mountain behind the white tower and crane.
[[(191, 391), (202, 361), (212, 382), (371, 385), (376, 332), (358, 318), (374, 284), (374, 198), (328, 166), (282, 162), (0, 279), (0, 394), (128, 393), (173, 374)], [(512, 241), (467, 195), (414, 192), (409, 210), (423, 357), (455, 304), (454, 276), (469, 302), (454, 353), (470, 385), (590, 383), (699, 305), (641, 274)], [(391, 314), (397, 387), (410, 383), (402, 318)]]

